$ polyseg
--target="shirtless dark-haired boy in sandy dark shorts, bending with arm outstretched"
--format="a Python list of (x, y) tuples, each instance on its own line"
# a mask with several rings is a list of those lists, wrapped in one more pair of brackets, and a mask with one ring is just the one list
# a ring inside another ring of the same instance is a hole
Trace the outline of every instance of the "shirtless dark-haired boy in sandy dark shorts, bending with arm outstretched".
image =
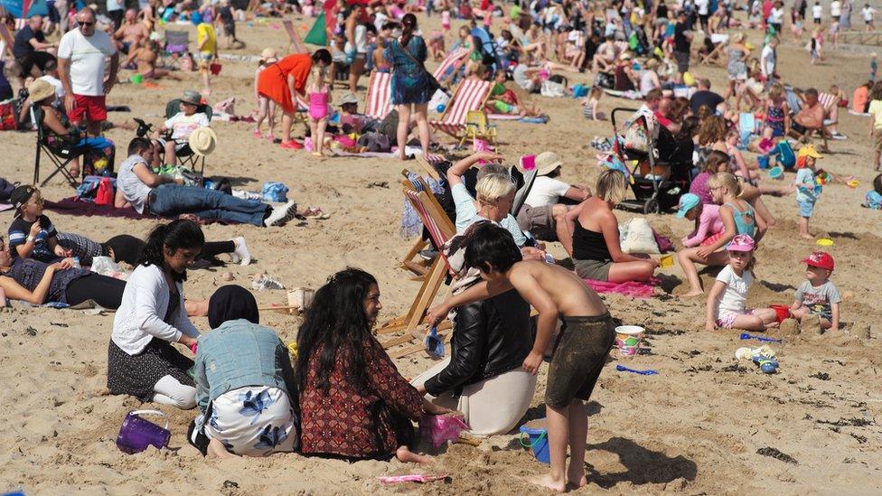
[[(613, 318), (597, 294), (571, 271), (535, 260), (521, 260), (511, 234), (487, 223), (474, 230), (465, 249), (466, 267), (481, 271), (483, 282), (431, 309), (427, 322), (435, 324), (456, 306), (518, 290), (539, 311), (536, 341), (523, 361), (524, 370), (539, 371), (551, 334), (563, 321), (549, 367), (545, 403), (551, 473), (530, 482), (555, 491), (586, 485), (585, 445), (588, 420), (583, 400), (591, 396), (606, 355), (615, 340)], [(569, 468), (566, 468), (569, 445)]]

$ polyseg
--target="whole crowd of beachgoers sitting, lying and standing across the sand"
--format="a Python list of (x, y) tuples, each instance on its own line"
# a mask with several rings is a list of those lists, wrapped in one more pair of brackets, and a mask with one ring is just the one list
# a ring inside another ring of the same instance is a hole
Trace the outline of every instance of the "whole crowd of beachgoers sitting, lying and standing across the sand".
[[(229, 254), (233, 262), (247, 265), (250, 254), (243, 237), (206, 242), (197, 223), (178, 219), (157, 225), (145, 240), (123, 234), (97, 242), (59, 231), (42, 210), (42, 193), (34, 185), (20, 185), (10, 196), (14, 220), (8, 241), (0, 245), (0, 300), (70, 306), (92, 300), (116, 310), (108, 342), (110, 392), (170, 407), (198, 407), (189, 441), (202, 454), (218, 457), (297, 451), (350, 461), (394, 457), (430, 463), (418, 453), (415, 422), (423, 416), (457, 415), (474, 435), (508, 433), (530, 407), (538, 370), (549, 358), (544, 401), (550, 473), (532, 482), (556, 491), (582, 487), (584, 401), (615, 341), (613, 317), (586, 280), (651, 285), (660, 267), (652, 257), (624, 250), (615, 215), (633, 181), (624, 168), (623, 160), (633, 158), (627, 148), (641, 146), (633, 136), (643, 134), (643, 150), (632, 151), (642, 151), (643, 158), (654, 154), (661, 167), (652, 169), (642, 158), (645, 170), (638, 167), (633, 174), (670, 181), (678, 191), (673, 202), (677, 218), (694, 222), (676, 259), (689, 285), (682, 296), (706, 298), (708, 331), (765, 331), (780, 323), (774, 309), (746, 307), (755, 252), (766, 236), (776, 235), (777, 220), (763, 197), (793, 194), (799, 236), (814, 239), (810, 220), (824, 184), (834, 181), (818, 161), (829, 151), (830, 140), (849, 139), (838, 128), (840, 102), (848, 99), (843, 90), (797, 89), (779, 70), (783, 30), (789, 27), (793, 39), (802, 42), (806, 4), (796, 0), (787, 21), (783, 3), (771, 0), (725, 1), (716, 10), (708, 0), (504, 6), (492, 0), (479, 5), (469, 0), (370, 5), (339, 0), (325, 9), (330, 17), (326, 47), (281, 57), (273, 49), (262, 51), (254, 72), (251, 134), (289, 150), (308, 148), (317, 159), (337, 151), (392, 152), (400, 159), (414, 149), (426, 156), (436, 153), (440, 148), (429, 126), (429, 102), (439, 90), (449, 91), (461, 81), (493, 82), (482, 111), (544, 117), (542, 122), (547, 116), (533, 98), (577, 96), (565, 74), (592, 73), (592, 88), (581, 94), (582, 105), (574, 106), (592, 122), (607, 117), (607, 94), (641, 100), (626, 125), (628, 135), (614, 136), (616, 151), (604, 159), (622, 166), (604, 168), (590, 186), (562, 181), (570, 165), (553, 151), (532, 157), (531, 169), (503, 165), (505, 157), (498, 151), (482, 150), (440, 171), (456, 235), (435, 248), (444, 252), (457, 276), (452, 296), (432, 308), (426, 322), (431, 327), (449, 316), (451, 353), (412, 380), (399, 373), (371, 332), (382, 309), (380, 283), (371, 274), (346, 268), (327, 279), (305, 311), (292, 356), (274, 330), (260, 325), (258, 305), (248, 290), (224, 285), (207, 301), (184, 295), (187, 271), (197, 260)], [(746, 19), (735, 15), (743, 7)], [(311, 2), (151, 0), (140, 10), (125, 10), (108, 1), (102, 14), (89, 6), (68, 10), (65, 5), (65, 12), (47, 19), (35, 15), (18, 30), (11, 47), (13, 80), (26, 88), (19, 117), (35, 126), (47, 144), (85, 151), (77, 154), (82, 161), (71, 161), (67, 172), (72, 177), (86, 168), (113, 175), (117, 209), (283, 226), (298, 215), (294, 201), (249, 201), (188, 183), (169, 171), (178, 170), (181, 158), (210, 154), (214, 148), (207, 100), (216, 93), (212, 65), (219, 60), (221, 43), (215, 26), (228, 49), (241, 49), (236, 23), (246, 15), (315, 14), (316, 8)], [(850, 0), (834, 0), (825, 16), (820, 4), (812, 7), (816, 27), (805, 61), (823, 60), (821, 26), (829, 24), (826, 33), (835, 46), (853, 8)], [(442, 29), (420, 31), (417, 14), (439, 14)], [(874, 15), (869, 5), (861, 11), (868, 30), (874, 29)], [(451, 19), (463, 24), (455, 33)], [(111, 126), (108, 94), (120, 70), (144, 79), (181, 78), (159, 67), (163, 49), (157, 29), (169, 22), (195, 25), (192, 63), (202, 90), (183, 91), (154, 134), (130, 139), (126, 157), (115, 167), (117, 145), (102, 137)], [(739, 27), (761, 30), (758, 56), (746, 31), (731, 31)], [(48, 41), (52, 30), (61, 33), (57, 43)], [(436, 78), (426, 63), (445, 60), (447, 42), (451, 51), (467, 50)], [(698, 68), (696, 57), (702, 64)], [(700, 67), (713, 61), (725, 67), (725, 89), (698, 76)], [(391, 73), (394, 111), (388, 117), (358, 112), (361, 77), (371, 71)], [(332, 97), (335, 82), (348, 89), (338, 99)], [(13, 97), (12, 85), (5, 83), (0, 99)], [(861, 83), (853, 99), (862, 96), (856, 113), (870, 117), (878, 171), (882, 81)], [(334, 102), (339, 111), (331, 108)], [(277, 111), (282, 114), (280, 137), (275, 135)], [(307, 139), (296, 137), (300, 120), (308, 127)], [(748, 160), (748, 153), (758, 159)], [(102, 160), (106, 165), (97, 167)], [(791, 184), (760, 181), (763, 164), (771, 161), (780, 174), (795, 173)], [(530, 174), (521, 190), (516, 178)], [(553, 242), (564, 248), (572, 270), (549, 255), (546, 243)], [(120, 279), (84, 268), (98, 257), (134, 269)], [(789, 315), (838, 331), (842, 296), (830, 280), (833, 257), (815, 251), (802, 263), (805, 281), (793, 295)], [(719, 268), (707, 292), (697, 266)], [(538, 312), (532, 319), (530, 307)], [(211, 331), (200, 332), (190, 320), (194, 315), (207, 315)]]

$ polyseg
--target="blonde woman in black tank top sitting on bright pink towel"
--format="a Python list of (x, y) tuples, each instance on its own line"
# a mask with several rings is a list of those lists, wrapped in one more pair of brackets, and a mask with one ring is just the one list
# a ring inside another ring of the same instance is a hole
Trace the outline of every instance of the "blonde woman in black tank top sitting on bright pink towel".
[(628, 255), (619, 245), (619, 225), (613, 208), (627, 191), (624, 174), (611, 169), (600, 173), (596, 196), (583, 201), (567, 215), (573, 238), (564, 241), (576, 273), (585, 279), (623, 283), (646, 281), (658, 262)]

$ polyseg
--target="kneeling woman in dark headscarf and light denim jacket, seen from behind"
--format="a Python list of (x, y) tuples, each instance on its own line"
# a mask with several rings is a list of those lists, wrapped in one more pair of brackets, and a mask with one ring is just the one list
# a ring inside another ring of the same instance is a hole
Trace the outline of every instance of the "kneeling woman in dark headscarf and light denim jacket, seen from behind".
[(196, 404), (190, 443), (202, 454), (263, 456), (294, 451), (297, 416), (293, 372), (285, 344), (258, 325), (254, 296), (238, 285), (209, 300), (209, 324), (196, 350)]

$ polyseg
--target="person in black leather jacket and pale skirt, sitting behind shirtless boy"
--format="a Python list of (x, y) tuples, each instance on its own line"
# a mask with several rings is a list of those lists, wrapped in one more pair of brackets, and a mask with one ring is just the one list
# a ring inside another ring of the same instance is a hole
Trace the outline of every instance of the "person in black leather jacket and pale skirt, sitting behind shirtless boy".
[(411, 384), (459, 410), (474, 435), (504, 434), (530, 407), (536, 377), (521, 364), (533, 346), (530, 305), (516, 291), (456, 308), (450, 359)]

